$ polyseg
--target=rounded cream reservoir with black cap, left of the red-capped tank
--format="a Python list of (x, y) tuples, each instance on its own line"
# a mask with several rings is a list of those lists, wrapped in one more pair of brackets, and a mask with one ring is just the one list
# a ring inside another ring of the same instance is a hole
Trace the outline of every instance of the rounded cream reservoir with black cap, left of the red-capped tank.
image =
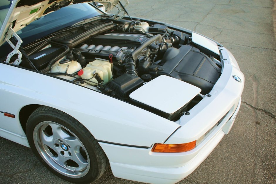
[[(51, 68), (51, 73), (68, 73), (72, 74), (75, 73), (79, 70), (81, 70), (81, 65), (77, 61), (70, 61), (69, 59), (62, 59), (59, 62), (56, 62), (52, 68)], [(75, 78), (66, 76), (66, 75), (60, 75), (58, 76), (60, 78), (64, 78), (70, 81), (73, 81)]]

